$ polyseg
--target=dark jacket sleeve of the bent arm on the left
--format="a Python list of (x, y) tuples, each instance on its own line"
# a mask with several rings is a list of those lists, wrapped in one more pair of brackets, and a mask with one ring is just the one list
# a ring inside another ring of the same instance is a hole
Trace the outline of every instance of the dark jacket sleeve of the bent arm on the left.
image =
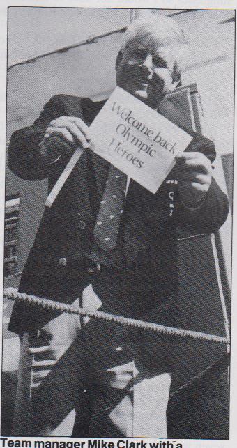
[[(43, 140), (49, 122), (63, 114), (60, 95), (55, 95), (47, 102), (33, 125), (13, 133), (8, 150), (8, 164), (10, 170), (16, 176), (26, 180), (47, 178), (49, 167), (45, 164), (45, 159), (40, 153), (39, 144)], [(49, 137), (49, 143), (52, 144), (52, 147), (59, 146), (59, 144), (60, 146), (66, 146), (66, 148), (63, 148), (65, 149), (63, 153), (68, 155), (69, 145), (59, 137)], [(59, 164), (63, 164), (63, 162), (65, 164), (63, 157), (61, 157)]]

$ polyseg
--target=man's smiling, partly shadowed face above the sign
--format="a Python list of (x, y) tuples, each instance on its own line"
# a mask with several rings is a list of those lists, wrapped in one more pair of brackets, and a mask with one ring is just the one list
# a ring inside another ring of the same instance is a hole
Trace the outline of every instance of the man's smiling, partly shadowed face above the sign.
[(133, 40), (118, 58), (117, 86), (156, 109), (165, 94), (174, 88), (174, 58), (171, 48)]

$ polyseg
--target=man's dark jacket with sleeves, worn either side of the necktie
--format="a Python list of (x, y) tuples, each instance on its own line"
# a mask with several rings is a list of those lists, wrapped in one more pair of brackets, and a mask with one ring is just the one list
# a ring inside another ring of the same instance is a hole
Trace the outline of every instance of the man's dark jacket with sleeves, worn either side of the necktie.
[[(49, 190), (65, 167), (72, 150), (61, 139), (50, 137), (52, 147), (62, 154), (58, 161), (45, 165), (38, 144), (50, 121), (59, 116), (79, 116), (88, 125), (93, 121), (103, 102), (88, 98), (56, 95), (45, 105), (40, 117), (29, 128), (16, 131), (10, 141), (8, 162), (17, 176), (27, 180), (48, 178)], [(63, 148), (63, 150), (62, 150)], [(210, 140), (194, 134), (187, 150), (201, 151), (211, 161), (215, 148)], [(107, 162), (92, 155), (96, 187), (101, 196), (100, 173)], [(178, 199), (175, 167), (156, 194), (130, 182), (125, 213), (121, 224), (121, 242), (132, 275), (132, 283), (140, 291), (149, 291), (167, 298), (177, 286), (176, 227), (197, 233), (213, 233), (220, 228), (228, 213), (228, 201), (215, 180), (202, 206), (191, 211)], [(174, 197), (174, 200), (171, 198)], [(84, 229), (79, 221), (86, 223)], [(78, 279), (82, 266), (75, 262), (82, 249), (93, 243), (92, 231), (95, 216), (91, 207), (88, 164), (82, 155), (52, 208), (46, 208), (33, 248), (26, 262), (20, 290), (28, 293), (70, 302), (70, 294), (59, 292), (59, 284), (70, 284)], [(66, 258), (66, 266), (59, 264)], [(61, 281), (59, 281), (61, 279)], [(70, 289), (69, 286), (68, 291)], [(148, 288), (148, 289), (147, 289)], [(60, 290), (61, 291), (61, 290)], [(72, 298), (73, 300), (73, 298)], [(72, 301), (71, 300), (71, 301)], [(23, 309), (15, 304), (10, 330), (22, 332), (40, 322), (38, 312)]]

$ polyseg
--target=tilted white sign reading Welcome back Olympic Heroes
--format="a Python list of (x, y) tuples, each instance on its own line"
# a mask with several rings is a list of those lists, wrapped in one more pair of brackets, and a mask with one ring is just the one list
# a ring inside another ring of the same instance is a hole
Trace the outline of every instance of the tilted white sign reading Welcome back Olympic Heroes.
[(120, 87), (90, 126), (94, 151), (155, 193), (192, 137)]

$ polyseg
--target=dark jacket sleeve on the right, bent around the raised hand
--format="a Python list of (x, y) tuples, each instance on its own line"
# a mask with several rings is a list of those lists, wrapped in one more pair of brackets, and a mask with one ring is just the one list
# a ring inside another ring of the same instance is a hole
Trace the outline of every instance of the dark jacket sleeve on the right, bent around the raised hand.
[[(213, 141), (197, 134), (186, 150), (200, 151), (211, 162), (215, 160), (215, 146)], [(189, 233), (213, 233), (224, 224), (228, 212), (229, 201), (227, 196), (222, 192), (219, 185), (217, 185), (215, 179), (212, 178), (204, 202), (196, 210), (190, 210), (185, 207), (182, 201), (177, 198), (175, 213), (176, 224)]]

